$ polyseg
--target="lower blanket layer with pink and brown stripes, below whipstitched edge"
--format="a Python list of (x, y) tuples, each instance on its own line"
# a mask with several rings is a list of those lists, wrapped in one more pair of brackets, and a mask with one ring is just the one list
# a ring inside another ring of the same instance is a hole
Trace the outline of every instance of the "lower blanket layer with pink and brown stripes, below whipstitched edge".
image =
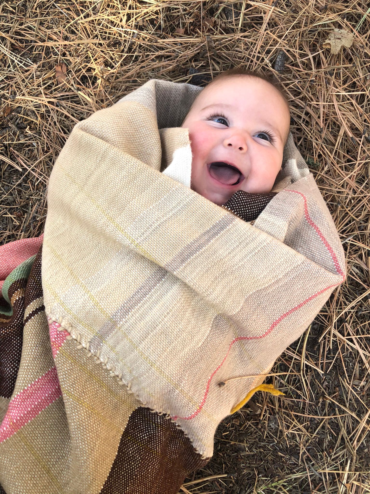
[[(14, 244), (7, 250), (19, 252)], [(174, 422), (141, 407), (48, 324), (41, 255), (42, 247), (4, 284), (11, 315), (0, 314), (0, 492), (177, 493), (206, 461)]]

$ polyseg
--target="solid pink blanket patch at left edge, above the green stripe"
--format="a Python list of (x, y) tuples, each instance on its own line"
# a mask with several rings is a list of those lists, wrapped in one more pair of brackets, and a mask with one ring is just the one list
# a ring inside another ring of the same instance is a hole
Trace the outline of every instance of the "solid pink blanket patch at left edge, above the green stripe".
[(6, 277), (21, 264), (37, 254), (44, 234), (31, 239), (15, 240), (0, 246), (0, 290)]

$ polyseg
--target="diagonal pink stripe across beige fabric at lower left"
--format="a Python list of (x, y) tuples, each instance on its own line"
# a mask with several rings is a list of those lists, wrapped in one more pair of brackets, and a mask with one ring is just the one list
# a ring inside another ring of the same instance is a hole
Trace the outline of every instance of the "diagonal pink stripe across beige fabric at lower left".
[(62, 395), (55, 367), (15, 395), (0, 425), (0, 443), (15, 434)]

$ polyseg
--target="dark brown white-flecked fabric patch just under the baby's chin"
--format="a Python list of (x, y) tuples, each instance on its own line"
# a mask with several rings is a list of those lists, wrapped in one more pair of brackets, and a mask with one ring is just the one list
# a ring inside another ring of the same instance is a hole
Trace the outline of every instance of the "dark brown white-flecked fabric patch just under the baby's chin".
[(276, 194), (277, 192), (252, 194), (244, 190), (237, 190), (222, 207), (244, 221), (254, 221)]

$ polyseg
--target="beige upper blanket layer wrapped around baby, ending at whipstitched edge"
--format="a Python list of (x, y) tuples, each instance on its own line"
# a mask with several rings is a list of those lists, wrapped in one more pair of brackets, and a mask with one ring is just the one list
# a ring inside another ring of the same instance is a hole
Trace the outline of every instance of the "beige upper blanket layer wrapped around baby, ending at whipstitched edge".
[[(151, 80), (75, 125), (49, 181), (41, 273), (49, 321), (209, 457), (264, 377), (218, 383), (267, 373), (345, 261), (292, 135), (280, 192), (253, 225), (189, 188), (180, 125), (199, 90)], [(84, 379), (81, 400), (95, 392)]]

